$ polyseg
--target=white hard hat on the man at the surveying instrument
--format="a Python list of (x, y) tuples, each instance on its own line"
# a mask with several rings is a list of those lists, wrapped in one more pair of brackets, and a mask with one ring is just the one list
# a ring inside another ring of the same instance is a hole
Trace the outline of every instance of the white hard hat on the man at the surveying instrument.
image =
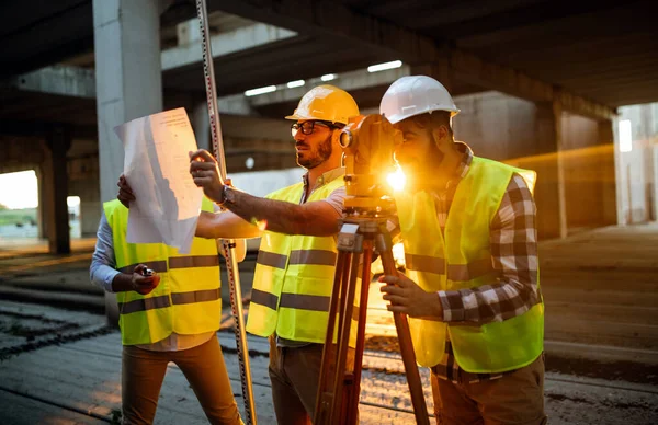
[(432, 111), (449, 111), (451, 116), (460, 113), (443, 84), (426, 76), (396, 80), (386, 90), (379, 104), (379, 113), (392, 124)]

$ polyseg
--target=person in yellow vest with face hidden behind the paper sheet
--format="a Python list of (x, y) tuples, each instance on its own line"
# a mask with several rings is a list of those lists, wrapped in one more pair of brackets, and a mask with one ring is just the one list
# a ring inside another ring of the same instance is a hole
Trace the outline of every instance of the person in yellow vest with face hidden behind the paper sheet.
[[(123, 181), (123, 176), (122, 176)], [(203, 209), (213, 211), (204, 199)], [(190, 254), (126, 241), (128, 208), (103, 205), (91, 280), (116, 292), (124, 424), (151, 424), (167, 365), (188, 378), (212, 424), (241, 424), (216, 331), (222, 320), (216, 241), (194, 238)], [(243, 255), (243, 248), (241, 254)]]

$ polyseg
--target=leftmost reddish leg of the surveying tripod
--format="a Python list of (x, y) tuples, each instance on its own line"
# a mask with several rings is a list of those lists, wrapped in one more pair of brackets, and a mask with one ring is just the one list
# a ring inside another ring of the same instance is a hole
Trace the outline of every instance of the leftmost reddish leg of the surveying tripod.
[[(333, 333), (336, 330), (336, 318), (339, 311), (340, 294), (349, 279), (350, 262), (352, 254), (349, 252), (339, 251), (336, 263), (336, 274), (333, 276), (333, 289), (331, 291), (331, 301), (329, 302), (329, 321), (327, 324), (327, 335), (325, 336), (325, 346), (322, 348), (322, 363), (320, 366), (320, 377), (318, 380), (318, 393), (316, 398), (316, 409), (314, 414), (314, 424), (329, 424), (329, 416), (333, 410), (333, 381), (334, 377), (330, 376), (330, 371), (336, 374), (336, 351), (333, 344)], [(344, 299), (344, 297), (343, 297)]]

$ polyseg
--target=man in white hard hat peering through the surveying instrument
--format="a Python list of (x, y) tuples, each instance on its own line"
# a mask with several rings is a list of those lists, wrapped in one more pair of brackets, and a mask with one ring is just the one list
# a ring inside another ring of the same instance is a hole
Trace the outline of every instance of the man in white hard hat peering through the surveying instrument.
[(423, 76), (400, 78), (382, 99), (411, 183), (396, 195), (407, 275), (383, 276), (382, 291), (388, 310), (411, 318), (439, 424), (543, 424), (535, 173), (455, 141), (458, 112)]

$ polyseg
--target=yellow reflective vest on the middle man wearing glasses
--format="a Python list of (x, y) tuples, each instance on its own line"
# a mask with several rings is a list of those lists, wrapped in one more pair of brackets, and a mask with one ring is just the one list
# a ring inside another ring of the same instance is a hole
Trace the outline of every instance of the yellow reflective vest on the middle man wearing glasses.
[[(308, 202), (325, 199), (343, 185), (342, 177), (334, 179), (315, 189)], [(298, 183), (276, 191), (268, 198), (298, 204), (303, 192), (304, 184)], [(276, 332), (286, 340), (324, 344), (337, 257), (333, 237), (265, 231), (253, 276), (247, 331), (265, 337)], [(358, 298), (353, 319), (359, 313)], [(355, 323), (352, 320), (352, 346)]]

